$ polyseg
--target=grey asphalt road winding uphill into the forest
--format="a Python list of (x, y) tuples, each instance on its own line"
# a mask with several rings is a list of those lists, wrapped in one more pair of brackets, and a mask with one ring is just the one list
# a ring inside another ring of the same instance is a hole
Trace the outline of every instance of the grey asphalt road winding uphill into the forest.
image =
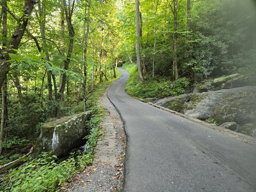
[(256, 146), (133, 99), (120, 70), (108, 97), (125, 123), (125, 192), (256, 191)]

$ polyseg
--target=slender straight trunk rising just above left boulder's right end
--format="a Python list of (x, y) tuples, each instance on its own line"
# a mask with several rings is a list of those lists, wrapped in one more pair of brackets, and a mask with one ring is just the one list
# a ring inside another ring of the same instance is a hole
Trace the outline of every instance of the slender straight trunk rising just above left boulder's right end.
[[(90, 7), (91, 7), (91, 0), (88, 2), (87, 7), (87, 19), (84, 20), (84, 83), (83, 83), (83, 106), (84, 111), (87, 110), (86, 108), (86, 98), (87, 98), (87, 44), (88, 44), (88, 36), (89, 36), (89, 29), (90, 29)], [(86, 9), (85, 9), (86, 15)], [(86, 23), (86, 33), (85, 33), (85, 23)]]

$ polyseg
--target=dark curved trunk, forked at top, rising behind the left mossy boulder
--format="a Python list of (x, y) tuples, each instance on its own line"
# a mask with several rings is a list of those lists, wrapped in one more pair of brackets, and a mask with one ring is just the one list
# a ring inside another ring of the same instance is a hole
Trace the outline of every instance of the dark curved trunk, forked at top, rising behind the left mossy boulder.
[[(74, 45), (75, 31), (74, 31), (73, 24), (72, 24), (72, 15), (73, 15), (73, 11), (74, 11), (74, 4), (75, 4), (75, 0), (73, 0), (73, 3), (71, 5), (72, 7), (70, 7), (70, 0), (69, 0), (69, 4), (67, 6), (66, 0), (63, 0), (66, 20), (67, 20), (67, 24), (68, 24), (68, 35), (69, 35), (68, 53), (67, 53), (66, 60), (64, 61), (64, 69), (65, 70), (68, 70), (68, 68), (69, 68), (69, 63), (70, 63), (71, 54), (72, 54), (73, 45)], [(55, 114), (56, 117), (60, 116), (60, 105), (62, 102), (63, 93), (64, 93), (65, 86), (66, 86), (66, 81), (67, 81), (67, 75), (66, 75), (66, 73), (63, 73), (62, 82), (60, 84), (60, 89), (59, 89), (59, 92), (57, 95), (59, 105), (56, 110), (56, 114)]]

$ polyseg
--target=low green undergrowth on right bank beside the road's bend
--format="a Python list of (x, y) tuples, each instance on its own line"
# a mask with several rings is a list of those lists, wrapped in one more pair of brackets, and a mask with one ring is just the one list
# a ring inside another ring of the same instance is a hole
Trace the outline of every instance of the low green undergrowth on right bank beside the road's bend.
[(190, 84), (187, 78), (170, 81), (169, 79), (147, 76), (145, 82), (142, 82), (138, 76), (137, 65), (125, 64), (123, 68), (130, 73), (125, 89), (133, 97), (145, 99), (177, 96), (185, 93), (185, 89)]

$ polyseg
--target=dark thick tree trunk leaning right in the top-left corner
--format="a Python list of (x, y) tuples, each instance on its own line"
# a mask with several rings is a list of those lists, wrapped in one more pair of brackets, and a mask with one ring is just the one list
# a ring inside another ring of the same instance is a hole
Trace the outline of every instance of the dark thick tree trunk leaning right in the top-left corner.
[[(3, 85), (3, 82), (5, 81), (5, 76), (10, 70), (11, 63), (6, 62), (7, 60), (10, 60), (8, 53), (15, 53), (15, 50), (19, 48), (19, 44), (28, 25), (29, 15), (33, 11), (35, 3), (35, 0), (25, 0), (22, 11), (23, 15), (19, 18), (19, 21), (12, 33), (9, 43), (6, 43), (7, 48), (3, 49), (3, 52), (5, 53), (2, 55), (2, 58), (0, 59), (0, 89)], [(2, 7), (4, 7), (3, 4)]]

